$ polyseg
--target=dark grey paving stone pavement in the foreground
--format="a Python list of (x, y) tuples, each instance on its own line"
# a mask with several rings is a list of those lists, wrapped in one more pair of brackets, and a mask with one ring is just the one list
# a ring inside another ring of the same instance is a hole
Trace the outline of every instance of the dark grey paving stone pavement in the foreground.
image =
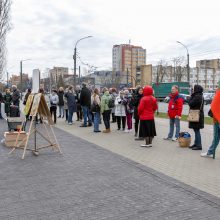
[[(0, 122), (0, 136), (6, 124)], [(220, 199), (62, 130), (60, 155), (0, 148), (0, 220), (220, 219)], [(39, 141), (39, 140), (38, 140)]]

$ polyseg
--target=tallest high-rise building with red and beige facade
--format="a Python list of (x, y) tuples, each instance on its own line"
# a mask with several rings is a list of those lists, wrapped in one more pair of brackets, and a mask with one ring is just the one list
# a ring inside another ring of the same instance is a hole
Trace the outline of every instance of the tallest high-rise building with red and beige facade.
[(112, 69), (127, 78), (127, 83), (136, 85), (137, 68), (146, 64), (146, 49), (130, 44), (114, 45), (112, 49)]

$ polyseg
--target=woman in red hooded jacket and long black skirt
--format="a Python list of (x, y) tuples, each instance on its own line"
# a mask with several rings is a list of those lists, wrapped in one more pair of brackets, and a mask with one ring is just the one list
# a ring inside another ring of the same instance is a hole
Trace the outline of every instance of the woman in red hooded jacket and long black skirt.
[(139, 137), (145, 139), (146, 144), (141, 147), (152, 147), (152, 140), (156, 136), (156, 128), (154, 123), (154, 112), (157, 110), (157, 100), (153, 97), (153, 89), (151, 86), (145, 86), (143, 98), (138, 107), (138, 115), (140, 118)]

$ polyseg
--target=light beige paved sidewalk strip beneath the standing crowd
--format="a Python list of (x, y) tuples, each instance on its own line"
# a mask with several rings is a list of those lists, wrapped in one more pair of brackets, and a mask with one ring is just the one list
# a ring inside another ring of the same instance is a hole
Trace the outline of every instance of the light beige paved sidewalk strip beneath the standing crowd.
[[(134, 141), (133, 133), (117, 131), (116, 124), (111, 124), (111, 126), (110, 134), (94, 134), (93, 128), (79, 128), (79, 123), (69, 126), (65, 122), (59, 121), (57, 125), (75, 136), (220, 197), (218, 169), (220, 153), (218, 150), (216, 159), (213, 160), (200, 157), (201, 151), (180, 148), (178, 143), (164, 141), (163, 137), (166, 137), (168, 132), (168, 120), (166, 119), (156, 119), (158, 136), (154, 139), (152, 148), (141, 148), (142, 142)], [(186, 122), (181, 122), (181, 128), (182, 131), (192, 131), (188, 129)], [(207, 150), (211, 144), (212, 136), (212, 126), (205, 126), (205, 129), (202, 130), (204, 150)]]

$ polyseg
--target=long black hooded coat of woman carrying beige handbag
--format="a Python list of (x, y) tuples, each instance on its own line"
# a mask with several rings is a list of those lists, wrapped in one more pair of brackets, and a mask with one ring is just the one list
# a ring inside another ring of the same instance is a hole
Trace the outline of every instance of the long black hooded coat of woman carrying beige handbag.
[(199, 110), (200, 116), (199, 122), (189, 122), (189, 128), (192, 129), (202, 129), (204, 128), (204, 101), (203, 101), (203, 88), (200, 85), (194, 86), (194, 93), (191, 95), (189, 100), (189, 108), (190, 110)]

